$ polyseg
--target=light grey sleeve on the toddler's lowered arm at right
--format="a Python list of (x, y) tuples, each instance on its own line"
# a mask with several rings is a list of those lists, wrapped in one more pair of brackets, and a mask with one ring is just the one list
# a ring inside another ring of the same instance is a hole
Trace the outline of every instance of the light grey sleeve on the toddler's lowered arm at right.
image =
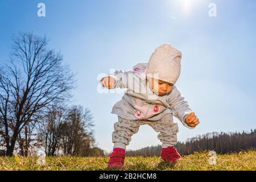
[(192, 110), (176, 86), (173, 86), (173, 90), (169, 96), (168, 104), (170, 109), (173, 111), (173, 115), (178, 118), (185, 127), (194, 129), (195, 127), (191, 127), (185, 122), (186, 117), (192, 112)]

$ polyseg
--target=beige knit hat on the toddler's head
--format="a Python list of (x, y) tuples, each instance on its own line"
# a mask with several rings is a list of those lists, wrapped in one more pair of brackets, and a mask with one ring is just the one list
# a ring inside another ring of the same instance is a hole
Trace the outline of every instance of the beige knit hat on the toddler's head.
[[(162, 44), (152, 53), (147, 76), (175, 84), (180, 76), (181, 52), (170, 44)], [(157, 75), (158, 77), (154, 76)]]

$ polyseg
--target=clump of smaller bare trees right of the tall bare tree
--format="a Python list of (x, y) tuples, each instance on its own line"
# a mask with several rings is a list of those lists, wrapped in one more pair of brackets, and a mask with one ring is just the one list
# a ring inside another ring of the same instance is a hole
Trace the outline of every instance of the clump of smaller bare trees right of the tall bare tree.
[(52, 106), (40, 125), (39, 139), (43, 141), (46, 155), (56, 155), (58, 151), (66, 155), (102, 154), (93, 148), (91, 111), (76, 105), (66, 108), (59, 104)]

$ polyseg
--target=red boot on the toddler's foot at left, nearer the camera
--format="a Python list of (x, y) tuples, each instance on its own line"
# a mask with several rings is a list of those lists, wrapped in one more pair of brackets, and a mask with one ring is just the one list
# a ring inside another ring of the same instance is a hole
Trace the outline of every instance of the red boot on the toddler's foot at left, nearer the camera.
[(125, 150), (123, 148), (114, 148), (109, 155), (108, 168), (120, 168), (124, 166)]

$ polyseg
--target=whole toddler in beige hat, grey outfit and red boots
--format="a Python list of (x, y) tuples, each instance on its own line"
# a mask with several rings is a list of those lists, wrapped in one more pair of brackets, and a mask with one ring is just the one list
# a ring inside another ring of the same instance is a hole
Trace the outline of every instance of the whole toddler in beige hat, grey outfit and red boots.
[(114, 125), (113, 152), (108, 168), (123, 167), (126, 146), (141, 125), (149, 125), (162, 142), (161, 158), (170, 163), (181, 160), (174, 147), (177, 143), (177, 123), (193, 129), (199, 121), (180, 91), (174, 85), (180, 76), (181, 52), (170, 44), (162, 44), (152, 53), (148, 63), (135, 65), (132, 71), (115, 71), (101, 78), (108, 89), (127, 88), (124, 96), (112, 108), (118, 116)]

